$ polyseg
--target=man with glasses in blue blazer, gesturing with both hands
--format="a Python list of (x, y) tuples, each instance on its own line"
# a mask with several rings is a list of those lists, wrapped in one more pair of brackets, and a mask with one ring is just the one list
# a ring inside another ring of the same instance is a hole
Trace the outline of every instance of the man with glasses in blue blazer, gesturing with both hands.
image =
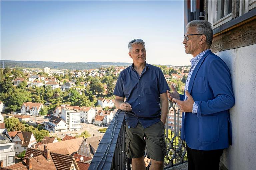
[(230, 71), (225, 62), (209, 49), (211, 23), (188, 23), (183, 44), (192, 54), (191, 69), (180, 95), (171, 85), (168, 98), (182, 111), (181, 138), (186, 141), (189, 170), (219, 169), (223, 149), (232, 145), (229, 109), (234, 106)]

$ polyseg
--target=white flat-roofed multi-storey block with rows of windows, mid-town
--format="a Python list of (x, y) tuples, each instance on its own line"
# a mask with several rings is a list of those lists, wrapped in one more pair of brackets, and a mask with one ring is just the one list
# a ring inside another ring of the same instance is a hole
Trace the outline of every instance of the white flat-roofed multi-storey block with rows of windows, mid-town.
[(63, 108), (61, 110), (61, 117), (66, 122), (67, 128), (72, 130), (80, 130), (80, 111), (76, 109)]

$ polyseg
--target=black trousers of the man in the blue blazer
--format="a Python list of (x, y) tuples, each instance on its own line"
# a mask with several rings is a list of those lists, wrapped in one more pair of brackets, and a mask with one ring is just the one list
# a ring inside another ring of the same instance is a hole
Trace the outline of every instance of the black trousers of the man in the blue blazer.
[(196, 150), (186, 146), (188, 170), (219, 170), (223, 149)]

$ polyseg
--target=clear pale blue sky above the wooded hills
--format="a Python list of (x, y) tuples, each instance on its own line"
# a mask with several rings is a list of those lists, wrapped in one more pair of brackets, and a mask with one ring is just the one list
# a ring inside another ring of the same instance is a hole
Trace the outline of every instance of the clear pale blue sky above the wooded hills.
[(128, 62), (143, 39), (147, 63), (190, 65), (183, 1), (1, 1), (1, 60)]

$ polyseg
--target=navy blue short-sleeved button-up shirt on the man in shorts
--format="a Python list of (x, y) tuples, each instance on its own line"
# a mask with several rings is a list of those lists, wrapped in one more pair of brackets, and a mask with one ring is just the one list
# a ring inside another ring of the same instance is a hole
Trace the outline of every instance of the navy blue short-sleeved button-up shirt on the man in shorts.
[(160, 121), (160, 94), (170, 89), (159, 67), (146, 63), (139, 76), (133, 66), (120, 73), (113, 94), (126, 97), (125, 102), (132, 106), (132, 110), (125, 114), (128, 126), (135, 128), (140, 121), (147, 128)]

